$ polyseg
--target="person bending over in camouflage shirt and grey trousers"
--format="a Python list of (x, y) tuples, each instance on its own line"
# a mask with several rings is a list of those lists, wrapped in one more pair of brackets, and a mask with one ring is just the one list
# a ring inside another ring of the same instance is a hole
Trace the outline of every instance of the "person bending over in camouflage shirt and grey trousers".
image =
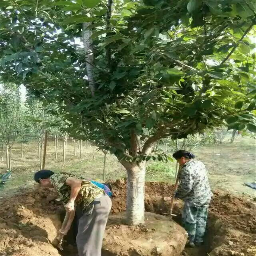
[(57, 190), (64, 203), (66, 216), (59, 237), (66, 235), (73, 222), (75, 211), (79, 218), (76, 244), (80, 256), (101, 256), (101, 246), (111, 199), (92, 182), (73, 173), (54, 173), (41, 170), (34, 179), (43, 187)]

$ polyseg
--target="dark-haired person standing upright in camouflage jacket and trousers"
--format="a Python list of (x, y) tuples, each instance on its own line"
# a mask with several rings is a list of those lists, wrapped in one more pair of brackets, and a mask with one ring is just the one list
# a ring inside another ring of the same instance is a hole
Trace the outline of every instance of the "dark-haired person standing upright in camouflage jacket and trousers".
[(199, 246), (203, 243), (209, 202), (213, 195), (205, 166), (193, 159), (195, 155), (185, 150), (176, 151), (173, 158), (180, 165), (180, 184), (175, 197), (184, 201), (182, 221), (189, 234), (187, 246)]

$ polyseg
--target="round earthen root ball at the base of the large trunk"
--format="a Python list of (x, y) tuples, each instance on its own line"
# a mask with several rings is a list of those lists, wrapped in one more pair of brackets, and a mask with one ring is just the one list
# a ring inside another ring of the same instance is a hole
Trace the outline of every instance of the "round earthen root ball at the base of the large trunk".
[(145, 224), (122, 225), (125, 214), (112, 214), (103, 240), (107, 255), (180, 255), (187, 234), (185, 229), (159, 214), (145, 213)]

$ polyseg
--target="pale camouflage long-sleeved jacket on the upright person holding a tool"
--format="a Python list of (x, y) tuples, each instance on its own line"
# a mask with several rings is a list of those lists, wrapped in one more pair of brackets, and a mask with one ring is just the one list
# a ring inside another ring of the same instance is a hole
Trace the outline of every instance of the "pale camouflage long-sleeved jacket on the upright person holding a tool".
[(209, 204), (213, 194), (202, 162), (193, 159), (186, 162), (180, 169), (178, 179), (180, 185), (176, 197), (197, 206)]

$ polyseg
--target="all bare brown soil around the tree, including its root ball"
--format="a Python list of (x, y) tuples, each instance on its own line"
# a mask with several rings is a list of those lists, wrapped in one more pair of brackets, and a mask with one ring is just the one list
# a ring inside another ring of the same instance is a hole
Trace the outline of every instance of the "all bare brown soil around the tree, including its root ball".
[[(175, 201), (173, 213), (177, 216), (172, 222), (166, 216), (172, 185), (146, 183), (146, 221), (139, 226), (125, 226), (121, 221), (126, 210), (125, 180), (112, 182), (112, 191), (112, 210), (103, 241), (104, 256), (253, 256), (256, 253), (255, 198), (214, 191), (204, 245), (183, 250), (186, 234), (178, 225), (182, 201)], [(52, 189), (23, 189), (14, 197), (1, 199), (0, 203), (0, 255), (77, 255), (75, 225), (65, 237), (64, 251), (55, 247), (64, 212)]]

